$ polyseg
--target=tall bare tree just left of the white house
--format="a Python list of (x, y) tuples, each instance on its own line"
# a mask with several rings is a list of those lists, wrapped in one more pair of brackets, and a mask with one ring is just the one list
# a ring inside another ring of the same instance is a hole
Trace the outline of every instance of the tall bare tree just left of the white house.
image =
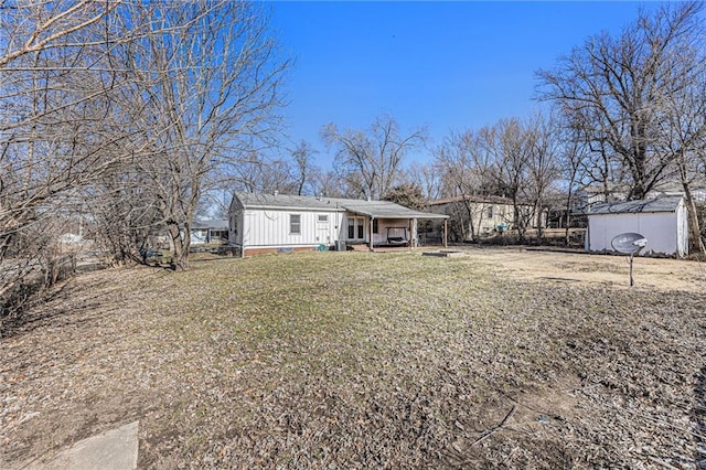
[(157, 129), (142, 171), (152, 179), (175, 265), (188, 269), (194, 211), (216, 181), (208, 177), (237, 164), (252, 140), (278, 124), (288, 61), (278, 60), (267, 17), (252, 2), (165, 3), (150, 24), (154, 34), (130, 64), (149, 96), (145, 121)]

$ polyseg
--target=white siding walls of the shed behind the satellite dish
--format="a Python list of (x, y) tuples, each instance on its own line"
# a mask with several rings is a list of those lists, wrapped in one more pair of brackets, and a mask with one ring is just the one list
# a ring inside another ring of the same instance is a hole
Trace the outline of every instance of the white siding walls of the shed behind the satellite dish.
[(641, 255), (685, 256), (688, 254), (686, 209), (674, 212), (591, 214), (588, 220), (588, 249), (613, 252), (610, 242), (621, 233), (634, 232), (648, 239)]

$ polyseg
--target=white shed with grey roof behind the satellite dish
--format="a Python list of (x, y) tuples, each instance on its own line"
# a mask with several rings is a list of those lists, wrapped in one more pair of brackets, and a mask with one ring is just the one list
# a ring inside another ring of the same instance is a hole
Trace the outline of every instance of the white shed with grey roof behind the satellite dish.
[(588, 211), (586, 248), (614, 252), (616, 235), (634, 232), (648, 239), (640, 255), (688, 255), (686, 205), (682, 197), (628, 201), (592, 206)]

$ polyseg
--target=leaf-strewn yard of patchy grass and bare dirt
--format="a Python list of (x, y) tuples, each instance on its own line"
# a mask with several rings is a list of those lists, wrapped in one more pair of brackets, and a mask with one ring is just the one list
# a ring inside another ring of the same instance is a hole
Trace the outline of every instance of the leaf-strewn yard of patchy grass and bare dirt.
[(521, 248), (82, 275), (0, 340), (0, 468), (706, 464), (705, 265)]

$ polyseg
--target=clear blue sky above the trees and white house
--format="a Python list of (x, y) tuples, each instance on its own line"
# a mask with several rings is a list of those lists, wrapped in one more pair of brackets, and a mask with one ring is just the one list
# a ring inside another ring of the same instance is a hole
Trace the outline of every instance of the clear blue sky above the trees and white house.
[[(427, 126), (429, 147), (451, 129), (524, 118), (538, 68), (592, 34), (619, 33), (635, 2), (290, 2), (271, 25), (296, 60), (285, 115), (289, 139), (309, 141), (330, 168), (321, 127), (364, 129), (391, 114), (403, 131)], [(648, 4), (654, 7), (654, 3)], [(428, 150), (409, 161), (431, 160)]]

